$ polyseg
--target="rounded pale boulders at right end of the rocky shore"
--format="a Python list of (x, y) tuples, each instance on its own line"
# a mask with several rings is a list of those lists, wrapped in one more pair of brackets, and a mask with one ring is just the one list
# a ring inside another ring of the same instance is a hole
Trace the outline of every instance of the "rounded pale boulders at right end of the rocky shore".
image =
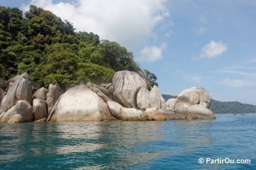
[(211, 96), (202, 87), (192, 87), (180, 92), (174, 102), (174, 112), (183, 119), (215, 119), (215, 114), (209, 110)]

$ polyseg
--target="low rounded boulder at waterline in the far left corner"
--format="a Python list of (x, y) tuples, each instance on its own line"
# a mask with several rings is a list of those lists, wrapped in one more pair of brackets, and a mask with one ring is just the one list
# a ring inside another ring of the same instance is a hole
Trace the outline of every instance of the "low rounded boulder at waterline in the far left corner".
[(28, 101), (17, 101), (16, 105), (1, 116), (1, 122), (20, 123), (34, 121), (33, 110)]

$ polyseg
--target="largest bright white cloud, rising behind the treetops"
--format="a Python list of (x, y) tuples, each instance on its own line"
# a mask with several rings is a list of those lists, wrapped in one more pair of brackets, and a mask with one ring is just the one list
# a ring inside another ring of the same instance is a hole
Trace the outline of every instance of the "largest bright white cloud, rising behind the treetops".
[(101, 39), (134, 48), (152, 36), (153, 28), (169, 16), (165, 1), (74, 0), (54, 3), (52, 0), (31, 0), (22, 8), (28, 10), (30, 4), (35, 4), (67, 19), (76, 31), (94, 32)]

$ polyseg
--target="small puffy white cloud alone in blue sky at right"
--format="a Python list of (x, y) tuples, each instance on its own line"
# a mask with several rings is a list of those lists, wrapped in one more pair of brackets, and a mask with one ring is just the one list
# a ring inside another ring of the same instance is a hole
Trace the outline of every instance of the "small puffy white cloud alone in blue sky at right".
[(204, 48), (201, 50), (200, 58), (216, 58), (227, 51), (228, 46), (223, 42), (215, 42), (211, 40)]

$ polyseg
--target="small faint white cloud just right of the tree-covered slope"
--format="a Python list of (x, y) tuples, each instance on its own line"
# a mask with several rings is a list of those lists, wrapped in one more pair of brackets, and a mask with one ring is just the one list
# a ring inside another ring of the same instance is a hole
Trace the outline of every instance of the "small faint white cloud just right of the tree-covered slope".
[(165, 45), (159, 47), (156, 45), (145, 46), (140, 51), (138, 61), (145, 61), (151, 63), (156, 60), (160, 60), (162, 58), (162, 50), (164, 48)]

